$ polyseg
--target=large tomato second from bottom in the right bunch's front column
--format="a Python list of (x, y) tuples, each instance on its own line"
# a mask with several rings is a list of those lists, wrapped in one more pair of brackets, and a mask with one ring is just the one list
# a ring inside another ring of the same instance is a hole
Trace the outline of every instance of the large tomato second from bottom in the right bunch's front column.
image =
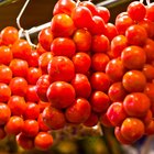
[(150, 107), (150, 98), (142, 92), (132, 92), (123, 100), (123, 108), (130, 117), (142, 118), (147, 113)]

